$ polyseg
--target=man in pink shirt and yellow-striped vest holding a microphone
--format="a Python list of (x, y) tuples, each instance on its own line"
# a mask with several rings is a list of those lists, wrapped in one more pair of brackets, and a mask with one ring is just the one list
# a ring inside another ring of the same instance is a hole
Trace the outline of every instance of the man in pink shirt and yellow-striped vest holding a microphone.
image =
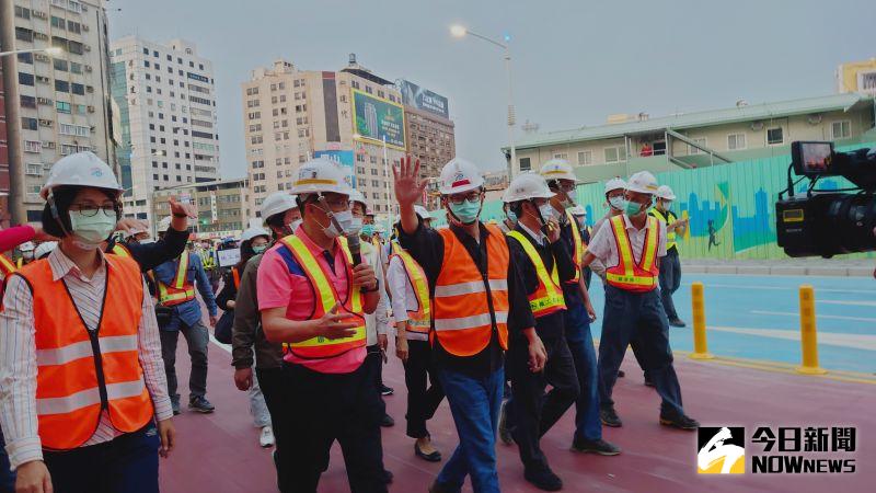
[(351, 491), (385, 492), (380, 420), (385, 412), (370, 381), (366, 314), (380, 301), (377, 275), (355, 251), (346, 172), (327, 159), (301, 165), (292, 183), (303, 223), (265, 252), (258, 309), (268, 341), (286, 344), (278, 470), (292, 491), (316, 491), (337, 440)]

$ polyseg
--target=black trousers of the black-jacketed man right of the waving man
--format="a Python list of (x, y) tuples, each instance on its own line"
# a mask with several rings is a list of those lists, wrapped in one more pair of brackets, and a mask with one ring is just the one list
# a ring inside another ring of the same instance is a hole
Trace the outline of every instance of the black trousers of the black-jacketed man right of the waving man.
[[(529, 344), (526, 340), (514, 341), (508, 348), (507, 358), (512, 390), (507, 422), (523, 467), (533, 471), (548, 468), (548, 458), (542, 452), (539, 440), (580, 393), (575, 360), (568, 351), (566, 339), (545, 337), (542, 343), (548, 353), (543, 371), (530, 371)], [(548, 385), (553, 388), (544, 393)]]

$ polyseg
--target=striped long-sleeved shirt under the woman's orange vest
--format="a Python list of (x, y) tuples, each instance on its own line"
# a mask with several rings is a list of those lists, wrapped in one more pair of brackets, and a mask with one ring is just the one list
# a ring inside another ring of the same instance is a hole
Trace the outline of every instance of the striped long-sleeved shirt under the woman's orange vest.
[[(100, 250), (99, 250), (100, 252)], [(82, 321), (89, 330), (96, 330), (103, 309), (107, 265), (101, 255), (101, 266), (91, 278), (85, 277), (77, 265), (55, 249), (47, 261), (55, 280), (64, 279)], [(143, 283), (143, 293), (149, 291)], [(107, 296), (112, 302), (112, 293)], [(0, 425), (7, 440), (7, 451), (12, 469), (42, 460), (43, 450), (37, 433), (36, 415), (36, 343), (33, 318), (33, 295), (27, 283), (20, 276), (9, 279), (3, 296), (3, 312), (0, 313)], [(161, 340), (152, 298), (143, 296), (142, 317), (138, 328), (137, 346), (140, 366), (143, 369), (146, 388), (155, 408), (159, 421), (173, 416), (164, 363), (161, 359)], [(110, 422), (106, 411), (94, 435), (83, 445), (110, 442), (122, 433)]]

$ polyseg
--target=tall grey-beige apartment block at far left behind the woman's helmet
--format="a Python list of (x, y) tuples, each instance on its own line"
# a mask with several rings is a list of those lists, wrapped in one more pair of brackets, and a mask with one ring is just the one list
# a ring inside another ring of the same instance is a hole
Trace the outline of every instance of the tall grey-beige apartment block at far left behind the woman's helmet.
[[(12, 221), (36, 222), (38, 192), (61, 157), (115, 161), (104, 0), (0, 2)], [(44, 50), (58, 47), (51, 57)]]

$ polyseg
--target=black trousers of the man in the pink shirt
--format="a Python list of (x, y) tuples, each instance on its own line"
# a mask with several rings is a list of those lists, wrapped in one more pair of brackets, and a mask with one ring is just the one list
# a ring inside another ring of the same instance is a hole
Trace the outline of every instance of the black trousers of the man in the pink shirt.
[[(337, 440), (353, 493), (385, 492), (380, 421), (385, 408), (367, 364), (349, 374), (284, 366), (285, 413), (279, 469), (291, 478), (284, 493), (315, 492)], [(291, 444), (289, 444), (291, 442)]]

